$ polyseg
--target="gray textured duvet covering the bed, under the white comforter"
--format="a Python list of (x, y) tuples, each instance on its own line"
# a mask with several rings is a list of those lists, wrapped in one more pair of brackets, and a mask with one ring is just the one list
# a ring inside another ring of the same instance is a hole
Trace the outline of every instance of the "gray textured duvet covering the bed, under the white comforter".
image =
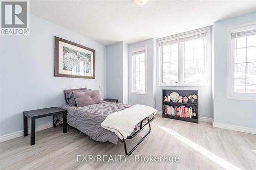
[[(67, 123), (77, 128), (96, 141), (109, 141), (117, 144), (118, 136), (100, 126), (103, 120), (111, 113), (127, 109), (129, 105), (113, 102), (104, 102), (83, 107), (65, 105), (61, 108), (68, 110)], [(153, 115), (150, 116), (150, 118)], [(134, 132), (139, 128), (138, 124)]]

